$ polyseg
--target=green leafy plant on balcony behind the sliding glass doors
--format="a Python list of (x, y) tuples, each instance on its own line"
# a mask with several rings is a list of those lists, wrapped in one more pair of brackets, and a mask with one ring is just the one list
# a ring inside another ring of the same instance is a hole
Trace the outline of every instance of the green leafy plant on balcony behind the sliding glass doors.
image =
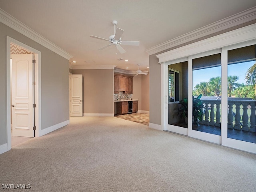
[[(202, 94), (197, 96), (196, 98), (192, 98), (193, 101), (193, 110), (192, 110), (192, 116), (193, 116), (193, 123), (198, 125), (198, 120), (202, 120), (202, 114), (203, 108), (205, 108), (203, 102), (200, 100), (202, 97)], [(181, 114), (182, 117), (186, 119), (188, 118), (188, 98), (183, 98), (183, 100), (180, 101), (181, 107), (178, 108), (178, 115)]]

